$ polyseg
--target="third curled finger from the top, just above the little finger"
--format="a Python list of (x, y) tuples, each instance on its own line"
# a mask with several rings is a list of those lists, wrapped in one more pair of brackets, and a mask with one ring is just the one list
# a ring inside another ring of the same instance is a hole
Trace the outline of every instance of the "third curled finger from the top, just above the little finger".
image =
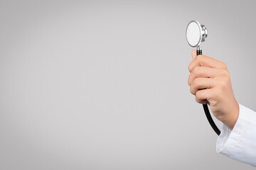
[(196, 78), (191, 84), (191, 94), (196, 95), (196, 92), (201, 89), (212, 89), (216, 85), (215, 79)]

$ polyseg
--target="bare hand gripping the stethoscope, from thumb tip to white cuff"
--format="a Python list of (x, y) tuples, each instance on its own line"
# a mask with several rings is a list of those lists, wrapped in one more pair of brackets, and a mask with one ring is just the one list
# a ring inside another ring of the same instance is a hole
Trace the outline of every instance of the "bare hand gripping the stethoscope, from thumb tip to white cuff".
[(227, 66), (206, 55), (196, 56), (196, 50), (193, 50), (192, 57), (193, 61), (188, 66), (191, 94), (196, 96), (196, 102), (208, 103), (215, 118), (233, 130), (238, 120), (239, 105)]

